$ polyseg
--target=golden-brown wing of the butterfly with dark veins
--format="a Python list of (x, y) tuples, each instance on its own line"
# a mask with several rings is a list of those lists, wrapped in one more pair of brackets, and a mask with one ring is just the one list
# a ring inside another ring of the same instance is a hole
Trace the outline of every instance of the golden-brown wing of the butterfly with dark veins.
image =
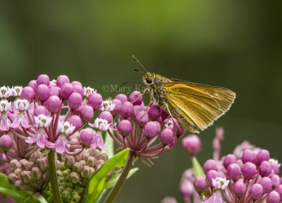
[(228, 111), (235, 99), (235, 93), (223, 87), (178, 81), (166, 82), (163, 87), (168, 106), (171, 106), (173, 114), (180, 118), (180, 125), (190, 131), (189, 126), (204, 130), (212, 125)]

